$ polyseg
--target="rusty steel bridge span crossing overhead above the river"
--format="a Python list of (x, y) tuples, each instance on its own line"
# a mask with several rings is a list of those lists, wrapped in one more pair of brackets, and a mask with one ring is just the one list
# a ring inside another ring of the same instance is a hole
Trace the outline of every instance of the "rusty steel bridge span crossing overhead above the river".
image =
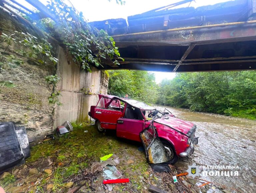
[(150, 17), (149, 13), (128, 17), (129, 26), (124, 22), (122, 26), (121, 19), (117, 19), (119, 26), (111, 20), (107, 29), (94, 22), (113, 36), (125, 59), (119, 60), (120, 65), (104, 61), (103, 67), (98, 68), (164, 72), (255, 70), (256, 21), (249, 11), (254, 10), (251, 1), (239, 0), (235, 5), (234, 1), (228, 2), (226, 7), (216, 4), (201, 8), (205, 11), (200, 13), (199, 8), (193, 8), (197, 15), (191, 13), (190, 18), (176, 16), (177, 9), (173, 14), (173, 10), (164, 14), (161, 11), (162, 15), (155, 17), (152, 14), (156, 12)]

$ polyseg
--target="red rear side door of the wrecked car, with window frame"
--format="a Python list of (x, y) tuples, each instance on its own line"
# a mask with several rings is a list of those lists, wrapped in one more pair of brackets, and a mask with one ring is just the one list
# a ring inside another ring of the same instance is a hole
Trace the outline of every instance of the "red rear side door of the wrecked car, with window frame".
[[(108, 109), (108, 103), (111, 100), (112, 99), (106, 97), (101, 97), (97, 106), (95, 107), (95, 118), (100, 121), (101, 127), (104, 129), (116, 129), (118, 118), (123, 116), (123, 112), (120, 108)], [(118, 100), (112, 101), (117, 101), (115, 104), (120, 104)]]

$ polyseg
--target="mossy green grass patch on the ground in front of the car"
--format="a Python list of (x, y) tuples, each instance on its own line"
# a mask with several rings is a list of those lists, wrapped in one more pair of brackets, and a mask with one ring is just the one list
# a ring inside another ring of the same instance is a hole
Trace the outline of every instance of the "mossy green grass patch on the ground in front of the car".
[[(56, 137), (55, 140), (46, 141), (32, 147), (31, 156), (26, 160), (27, 163), (32, 163), (48, 156), (56, 160), (58, 167), (55, 169), (51, 179), (47, 181), (47, 184), (53, 184), (54, 192), (65, 187), (65, 183), (63, 183), (65, 179), (68, 178), (72, 181), (72, 176), (77, 175), (85, 168), (89, 168), (91, 163), (99, 162), (100, 157), (109, 153), (116, 154), (124, 159), (117, 166), (123, 173), (123, 177), (132, 179), (134, 175), (142, 175), (147, 170), (148, 163), (145, 154), (137, 150), (138, 144), (133, 145), (133, 142), (118, 139), (115, 136), (115, 132), (101, 134), (96, 130), (95, 126), (90, 126), (88, 123), (72, 123), (72, 126), (74, 130), (70, 134), (59, 138)], [(88, 130), (88, 132), (84, 133), (85, 130)], [(134, 156), (136, 159), (131, 165), (124, 164), (128, 156)], [(46, 177), (48, 176), (45, 175)], [(143, 187), (139, 179), (133, 179), (133, 181), (135, 189)], [(46, 182), (43, 184), (39, 184), (39, 186), (45, 188)], [(38, 191), (41, 192), (42, 190)]]

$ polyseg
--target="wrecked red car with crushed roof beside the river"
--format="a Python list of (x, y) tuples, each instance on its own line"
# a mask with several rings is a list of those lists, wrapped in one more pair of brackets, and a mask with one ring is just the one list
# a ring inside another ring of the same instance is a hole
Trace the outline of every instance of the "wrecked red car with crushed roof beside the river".
[(138, 142), (142, 142), (140, 134), (143, 131), (149, 127), (155, 129), (153, 135), (157, 133), (162, 142), (168, 163), (174, 164), (178, 157), (194, 152), (198, 138), (195, 138), (196, 125), (166, 111), (136, 100), (99, 94), (99, 101), (96, 106), (91, 106), (89, 116), (95, 119), (99, 132), (116, 130), (117, 137)]

